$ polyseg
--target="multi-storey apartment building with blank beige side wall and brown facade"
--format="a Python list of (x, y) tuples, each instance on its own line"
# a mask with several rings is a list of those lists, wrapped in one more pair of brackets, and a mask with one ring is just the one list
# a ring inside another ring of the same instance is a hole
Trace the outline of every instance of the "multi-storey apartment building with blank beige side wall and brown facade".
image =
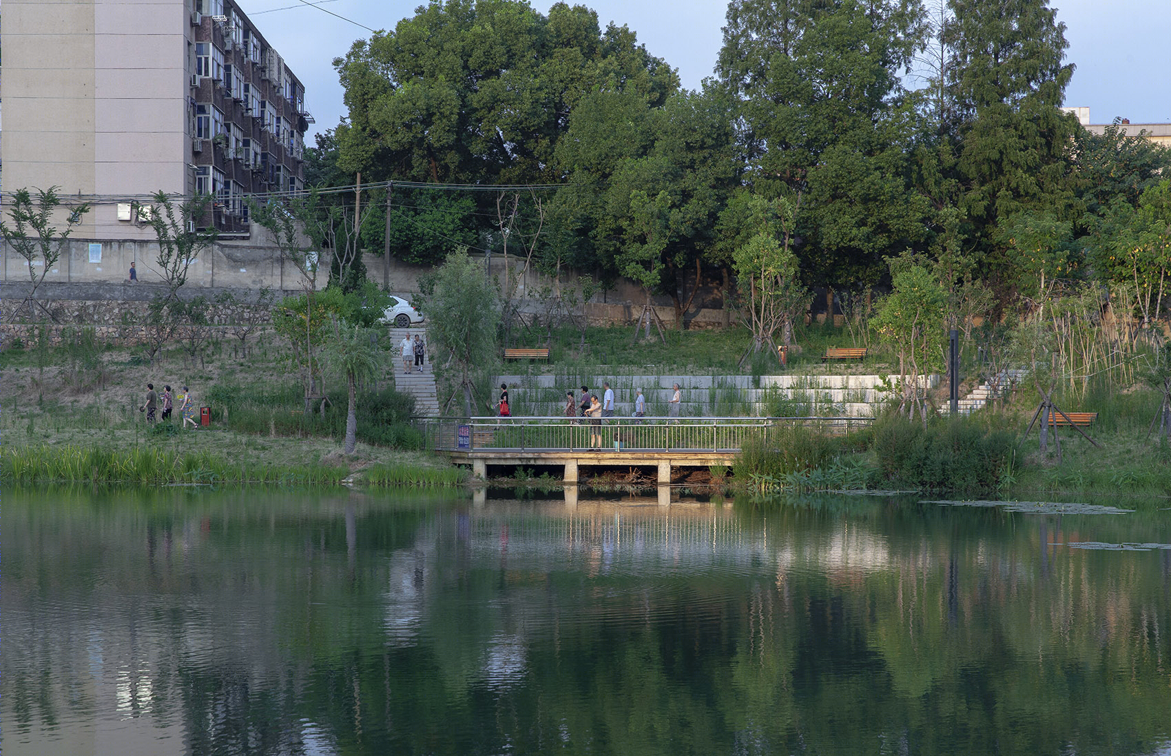
[(6, 0), (0, 35), (2, 189), (93, 200), (74, 238), (152, 238), (158, 190), (242, 238), (246, 195), (303, 188), (304, 87), (233, 0)]

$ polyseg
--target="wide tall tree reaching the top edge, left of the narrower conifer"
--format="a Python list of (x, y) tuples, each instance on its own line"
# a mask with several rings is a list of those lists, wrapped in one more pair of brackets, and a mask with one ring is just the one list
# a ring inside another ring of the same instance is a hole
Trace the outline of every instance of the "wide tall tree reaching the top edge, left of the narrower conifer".
[(919, 243), (926, 200), (909, 183), (917, 134), (899, 70), (917, 2), (733, 0), (717, 63), (738, 103), (754, 189), (802, 196), (797, 246), (810, 282), (874, 285), (882, 257)]

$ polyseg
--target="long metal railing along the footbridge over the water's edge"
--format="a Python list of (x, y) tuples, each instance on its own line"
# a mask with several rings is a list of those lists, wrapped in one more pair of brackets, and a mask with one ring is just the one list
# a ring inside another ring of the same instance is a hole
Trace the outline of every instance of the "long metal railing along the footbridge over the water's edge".
[[(744, 443), (766, 444), (783, 429), (849, 434), (870, 417), (416, 417), (426, 448), (436, 451), (504, 449), (525, 451), (603, 450), (739, 451)], [(600, 438), (598, 438), (600, 437)]]

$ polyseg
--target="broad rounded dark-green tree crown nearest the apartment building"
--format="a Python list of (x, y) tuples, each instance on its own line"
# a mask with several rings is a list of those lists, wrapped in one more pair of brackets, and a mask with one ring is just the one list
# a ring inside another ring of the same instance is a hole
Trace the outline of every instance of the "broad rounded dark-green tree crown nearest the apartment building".
[(570, 113), (597, 90), (652, 104), (678, 86), (625, 27), (584, 6), (548, 16), (522, 0), (432, 0), (334, 61), (349, 120), (341, 165), (368, 181), (530, 183), (559, 178)]

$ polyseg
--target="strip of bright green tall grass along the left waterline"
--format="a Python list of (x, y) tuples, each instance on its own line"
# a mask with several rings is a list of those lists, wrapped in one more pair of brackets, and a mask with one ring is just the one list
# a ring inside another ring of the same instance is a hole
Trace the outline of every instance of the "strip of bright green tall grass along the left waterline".
[(12, 483), (341, 483), (345, 468), (320, 464), (244, 464), (207, 452), (179, 455), (167, 449), (135, 447), (22, 447), (0, 451), (0, 476)]

